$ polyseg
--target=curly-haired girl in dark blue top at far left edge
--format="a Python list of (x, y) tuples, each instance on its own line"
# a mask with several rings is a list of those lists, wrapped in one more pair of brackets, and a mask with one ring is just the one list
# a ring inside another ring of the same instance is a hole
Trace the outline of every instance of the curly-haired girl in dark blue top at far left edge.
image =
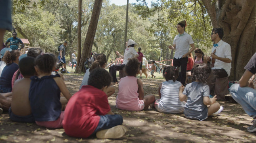
[(3, 61), (4, 67), (0, 77), (0, 93), (7, 93), (12, 91), (13, 74), (19, 69), (19, 56), (21, 52), (18, 50), (6, 51), (4, 53)]

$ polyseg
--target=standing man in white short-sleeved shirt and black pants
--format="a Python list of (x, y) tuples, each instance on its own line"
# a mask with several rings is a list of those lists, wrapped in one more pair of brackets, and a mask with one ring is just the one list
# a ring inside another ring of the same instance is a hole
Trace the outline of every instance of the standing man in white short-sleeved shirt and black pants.
[[(195, 45), (192, 40), (192, 37), (185, 32), (186, 21), (183, 20), (178, 23), (177, 31), (178, 35), (175, 36), (173, 40), (173, 45), (168, 46), (169, 49), (175, 50), (174, 58), (173, 58), (173, 66), (181, 68), (180, 79), (178, 80), (185, 86), (186, 81), (186, 70), (187, 70), (187, 62), (188, 55), (194, 51)], [(191, 49), (189, 47), (191, 46)]]

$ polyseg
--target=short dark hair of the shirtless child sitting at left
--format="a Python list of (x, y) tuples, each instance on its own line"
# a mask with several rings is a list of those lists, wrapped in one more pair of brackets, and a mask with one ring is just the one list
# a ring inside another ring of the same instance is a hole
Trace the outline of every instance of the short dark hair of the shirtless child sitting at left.
[(19, 70), (24, 77), (30, 77), (35, 75), (36, 70), (34, 66), (35, 66), (34, 57), (24, 57), (19, 61)]

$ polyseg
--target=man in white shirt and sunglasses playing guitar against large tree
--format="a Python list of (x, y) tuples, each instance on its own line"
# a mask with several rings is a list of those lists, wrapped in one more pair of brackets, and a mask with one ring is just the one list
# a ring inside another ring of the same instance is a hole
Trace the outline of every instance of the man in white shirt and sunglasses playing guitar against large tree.
[[(212, 29), (211, 39), (214, 41), (214, 46), (212, 47), (212, 59), (215, 59), (214, 67), (212, 67), (212, 73), (216, 78), (226, 78), (230, 75), (231, 69), (231, 47), (228, 43), (222, 41), (224, 32), (222, 28)], [(215, 52), (214, 52), (215, 51)], [(210, 61), (210, 57), (207, 57)], [(213, 84), (216, 88), (215, 84)], [(210, 86), (211, 88), (211, 86)], [(224, 95), (218, 95), (218, 100), (225, 100)]]

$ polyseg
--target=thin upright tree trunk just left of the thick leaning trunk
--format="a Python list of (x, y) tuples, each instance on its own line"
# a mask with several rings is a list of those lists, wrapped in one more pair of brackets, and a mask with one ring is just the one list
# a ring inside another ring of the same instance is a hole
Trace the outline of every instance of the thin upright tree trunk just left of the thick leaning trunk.
[[(78, 2), (78, 59), (77, 65), (80, 63), (81, 59), (81, 28), (82, 28), (82, 0)], [(78, 68), (76, 68), (76, 72), (78, 72)]]

